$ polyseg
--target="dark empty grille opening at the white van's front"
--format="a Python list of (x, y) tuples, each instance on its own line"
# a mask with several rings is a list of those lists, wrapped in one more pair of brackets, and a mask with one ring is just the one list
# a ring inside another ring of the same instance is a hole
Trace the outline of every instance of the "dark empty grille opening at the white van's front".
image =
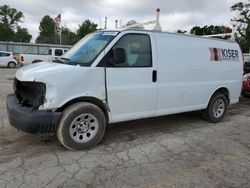
[(14, 91), (20, 104), (37, 109), (44, 103), (46, 85), (41, 82), (22, 82), (14, 79)]

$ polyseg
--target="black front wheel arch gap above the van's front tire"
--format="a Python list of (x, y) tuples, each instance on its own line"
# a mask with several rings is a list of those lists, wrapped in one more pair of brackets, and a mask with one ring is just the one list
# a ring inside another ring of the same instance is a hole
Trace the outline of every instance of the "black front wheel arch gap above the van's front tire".
[(95, 98), (95, 97), (79, 97), (79, 98), (76, 98), (76, 99), (72, 99), (71, 101), (68, 101), (66, 104), (64, 104), (62, 107), (58, 108), (57, 109), (57, 112), (63, 112), (64, 109), (66, 109), (68, 106), (72, 105), (72, 104), (75, 104), (75, 103), (78, 103), (78, 102), (89, 102), (89, 103), (92, 103), (96, 106), (98, 106), (104, 113), (105, 117), (106, 117), (106, 121), (107, 123), (109, 123), (109, 107), (107, 104), (103, 103), (103, 101), (101, 101), (100, 99), (98, 98)]

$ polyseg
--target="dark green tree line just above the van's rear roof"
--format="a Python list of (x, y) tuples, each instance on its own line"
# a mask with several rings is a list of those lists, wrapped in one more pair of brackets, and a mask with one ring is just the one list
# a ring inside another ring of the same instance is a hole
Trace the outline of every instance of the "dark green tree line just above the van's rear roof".
[(191, 29), (190, 33), (194, 34), (194, 35), (216, 35), (216, 34), (223, 34), (223, 33), (230, 33), (232, 32), (232, 29), (229, 27), (225, 27), (225, 26), (214, 26), (214, 25), (210, 25), (210, 26), (203, 26), (203, 27), (199, 27), (199, 26), (195, 26)]

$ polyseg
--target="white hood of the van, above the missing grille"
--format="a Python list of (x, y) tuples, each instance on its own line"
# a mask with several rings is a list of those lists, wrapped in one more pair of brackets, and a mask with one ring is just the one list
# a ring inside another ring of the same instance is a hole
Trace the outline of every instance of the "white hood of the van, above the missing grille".
[(76, 67), (52, 62), (34, 63), (20, 68), (16, 72), (16, 78), (20, 81), (37, 81), (40, 76), (45, 77), (59, 72), (70, 71), (76, 69)]

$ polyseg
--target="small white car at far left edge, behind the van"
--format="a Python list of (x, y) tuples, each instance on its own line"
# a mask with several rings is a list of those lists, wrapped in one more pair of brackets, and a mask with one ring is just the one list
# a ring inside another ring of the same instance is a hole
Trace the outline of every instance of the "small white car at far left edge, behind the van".
[(19, 63), (12, 52), (0, 51), (0, 66), (15, 68)]

